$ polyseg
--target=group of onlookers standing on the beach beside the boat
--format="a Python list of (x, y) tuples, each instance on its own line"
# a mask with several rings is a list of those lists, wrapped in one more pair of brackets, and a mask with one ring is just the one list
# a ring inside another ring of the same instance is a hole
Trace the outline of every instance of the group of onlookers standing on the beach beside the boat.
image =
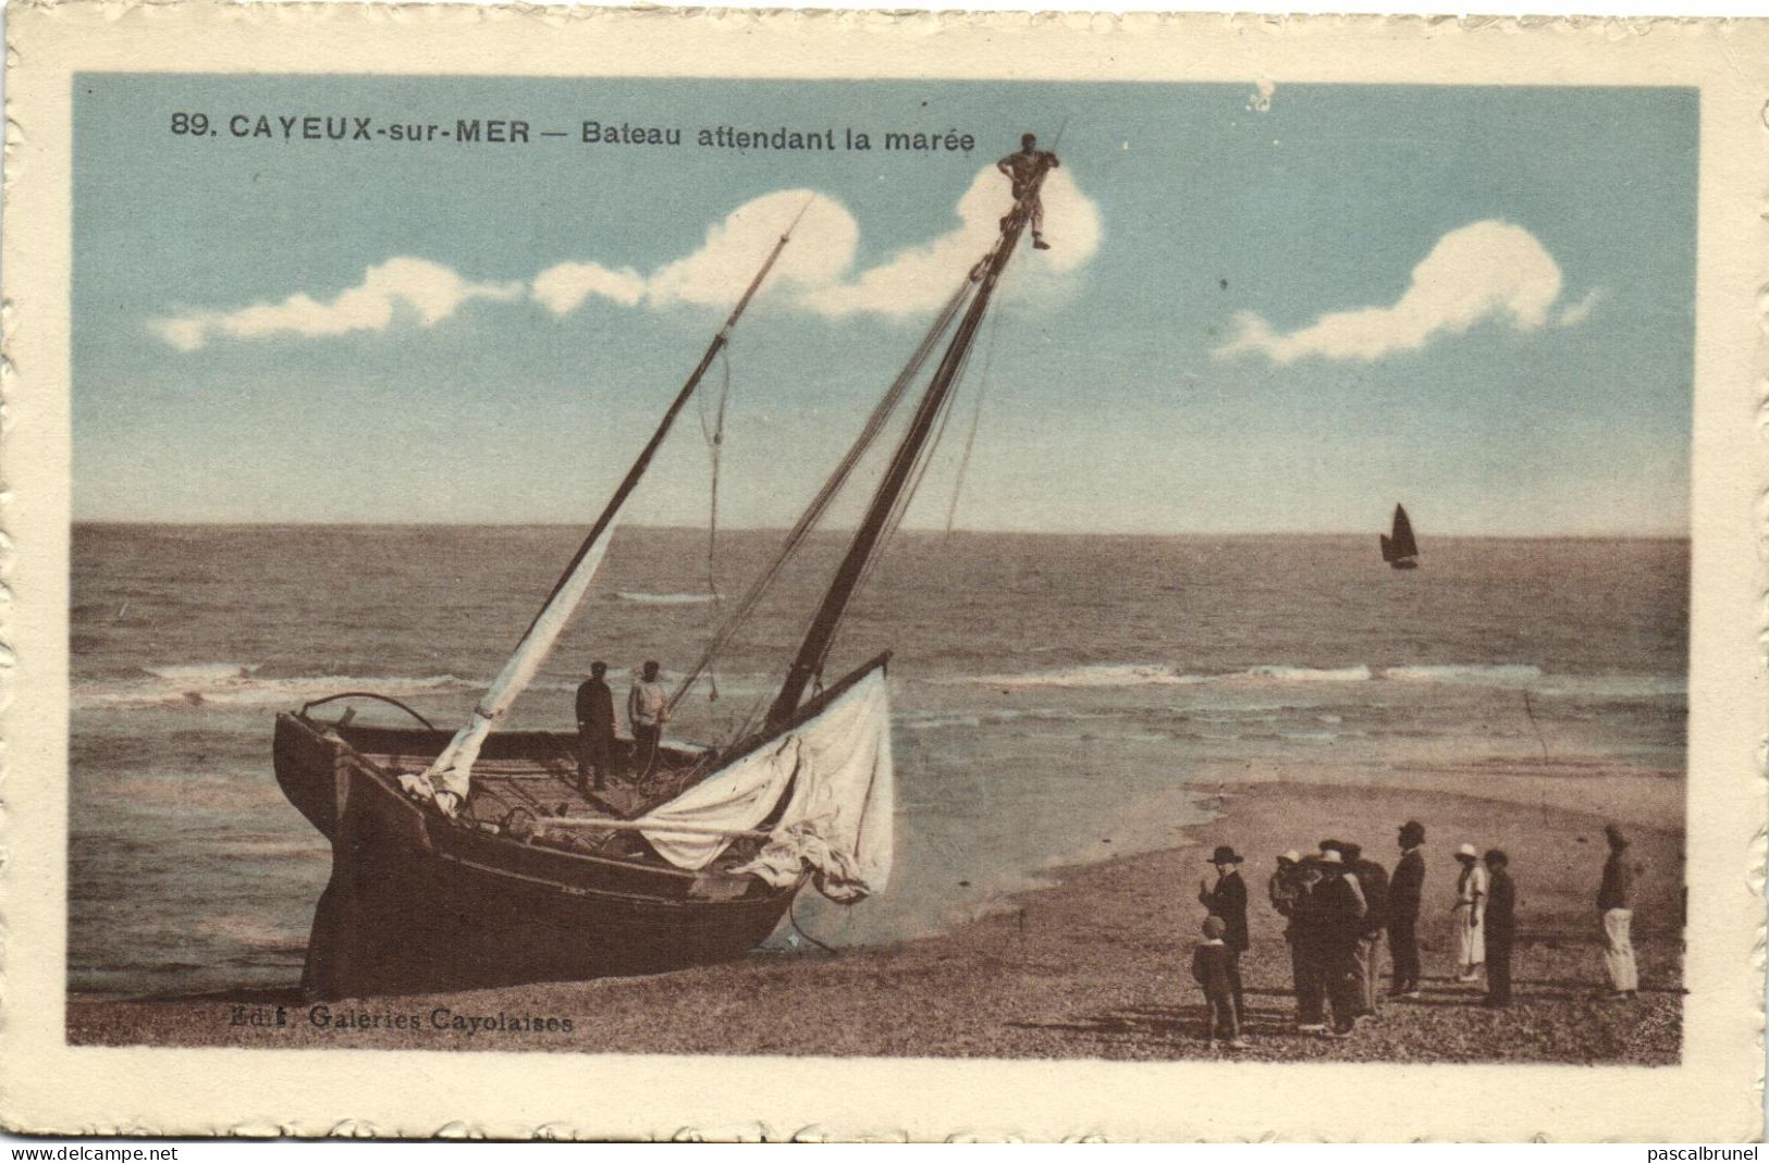
[[(1597, 889), (1603, 924), (1603, 960), (1610, 999), (1633, 1000), (1638, 970), (1629, 937), (1633, 868), (1627, 836), (1604, 827), (1610, 859)], [(1267, 898), (1284, 917), (1290, 972), (1297, 995), (1297, 1030), (1321, 1038), (1350, 1038), (1357, 1022), (1375, 1018), (1382, 1000), (1378, 953), (1389, 937), (1396, 1000), (1421, 999), (1419, 914), (1424, 903), (1426, 829), (1419, 820), (1399, 827), (1401, 859), (1390, 877), (1360, 845), (1323, 840), (1320, 850), (1284, 852), (1267, 880)], [(1198, 901), (1208, 910), (1205, 939), (1192, 951), (1192, 977), (1205, 995), (1205, 1039), (1244, 1048), (1245, 1006), (1240, 958), (1251, 947), (1244, 859), (1229, 845), (1210, 855), (1215, 884), (1198, 884)], [(1456, 848), (1456, 901), (1451, 905), (1454, 981), (1475, 983), (1486, 972), (1481, 1004), (1511, 1006), (1511, 953), (1518, 931), (1518, 889), (1511, 859), (1500, 848), (1484, 854), (1465, 843)]]

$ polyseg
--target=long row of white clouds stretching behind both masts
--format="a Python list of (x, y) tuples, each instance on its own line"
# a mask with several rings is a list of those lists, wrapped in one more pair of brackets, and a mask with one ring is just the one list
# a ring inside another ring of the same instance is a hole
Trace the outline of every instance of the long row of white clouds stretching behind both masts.
[[(391, 258), (370, 267), (361, 285), (331, 300), (294, 293), (281, 302), (239, 311), (191, 311), (154, 320), (152, 329), (180, 352), (191, 352), (216, 336), (253, 339), (386, 331), (402, 306), (416, 311), (417, 322), (428, 327), (471, 299), (509, 302), (527, 295), (561, 316), (591, 299), (626, 308), (688, 304), (729, 309), (794, 217), (793, 242), (780, 253), (762, 292), (768, 299), (824, 318), (906, 316), (945, 304), (969, 265), (989, 249), (1008, 209), (1007, 179), (987, 166), (959, 198), (955, 228), (897, 251), (876, 267), (856, 270), (860, 224), (847, 207), (808, 189), (782, 189), (743, 203), (708, 228), (699, 249), (651, 274), (598, 262), (563, 262), (541, 270), (529, 285), (469, 283), (433, 262)], [(1045, 179), (1044, 224), (1053, 249), (1024, 249), (1007, 292), (1017, 302), (1061, 293), (1070, 276), (1099, 249), (1099, 209), (1063, 170)]]

